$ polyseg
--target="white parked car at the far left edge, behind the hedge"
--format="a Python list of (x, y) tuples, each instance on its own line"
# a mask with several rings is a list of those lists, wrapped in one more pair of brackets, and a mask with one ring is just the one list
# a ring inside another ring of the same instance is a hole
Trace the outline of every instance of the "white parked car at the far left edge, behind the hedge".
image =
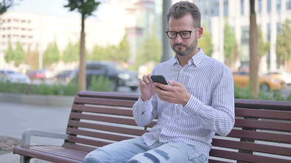
[(20, 82), (20, 83), (31, 83), (31, 80), (27, 75), (11, 71), (11, 70), (1, 70), (0, 71), (0, 81), (4, 82)]

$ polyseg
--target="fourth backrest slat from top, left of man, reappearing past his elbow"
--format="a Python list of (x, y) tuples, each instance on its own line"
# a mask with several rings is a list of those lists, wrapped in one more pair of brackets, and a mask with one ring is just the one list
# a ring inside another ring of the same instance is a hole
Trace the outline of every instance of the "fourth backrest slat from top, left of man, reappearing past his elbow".
[[(74, 113), (74, 112), (70, 114), (70, 118), (74, 118), (74, 119), (78, 118), (78, 119), (95, 120), (95, 121), (102, 121), (102, 122), (138, 126), (134, 119), (128, 119), (128, 118), (89, 115), (89, 114)], [(146, 127), (153, 127), (154, 124), (155, 124), (154, 122), (151, 122), (150, 124), (146, 125)]]

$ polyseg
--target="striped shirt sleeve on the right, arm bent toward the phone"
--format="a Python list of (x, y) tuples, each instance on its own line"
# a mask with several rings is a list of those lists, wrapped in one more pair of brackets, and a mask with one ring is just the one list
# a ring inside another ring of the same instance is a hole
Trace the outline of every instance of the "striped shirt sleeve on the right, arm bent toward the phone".
[(212, 105), (207, 106), (191, 95), (183, 107), (191, 117), (205, 128), (220, 136), (227, 136), (234, 126), (234, 86), (232, 73), (225, 68), (217, 78), (212, 93)]

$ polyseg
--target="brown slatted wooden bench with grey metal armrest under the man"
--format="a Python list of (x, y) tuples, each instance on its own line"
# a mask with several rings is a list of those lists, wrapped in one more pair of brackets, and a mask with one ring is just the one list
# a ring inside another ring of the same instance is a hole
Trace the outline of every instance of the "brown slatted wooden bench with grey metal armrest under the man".
[[(75, 97), (66, 134), (27, 130), (13, 153), (21, 163), (37, 158), (80, 163), (90, 151), (115, 141), (141, 136), (154, 126), (136, 125), (132, 106), (138, 95), (80, 91)], [(235, 127), (215, 136), (209, 163), (291, 163), (291, 102), (235, 100)], [(37, 123), (37, 122), (36, 122)], [(31, 136), (64, 139), (62, 146), (30, 145)]]

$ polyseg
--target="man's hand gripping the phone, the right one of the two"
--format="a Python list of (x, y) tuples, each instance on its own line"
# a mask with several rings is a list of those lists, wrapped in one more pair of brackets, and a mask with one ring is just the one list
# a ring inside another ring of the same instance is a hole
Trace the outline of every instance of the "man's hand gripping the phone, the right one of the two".
[[(191, 94), (186, 90), (182, 83), (176, 81), (169, 81), (170, 85), (155, 82), (154, 91), (162, 101), (174, 104), (182, 104), (185, 106)], [(162, 89), (164, 90), (162, 90)]]

